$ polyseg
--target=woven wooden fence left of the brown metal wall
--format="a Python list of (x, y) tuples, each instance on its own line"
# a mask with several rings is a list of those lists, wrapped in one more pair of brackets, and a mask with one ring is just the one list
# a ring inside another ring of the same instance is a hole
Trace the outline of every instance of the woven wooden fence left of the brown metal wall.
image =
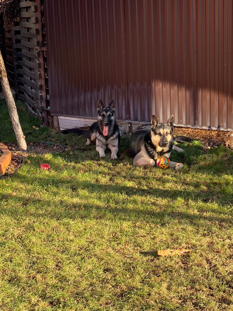
[[(23, 100), (44, 125), (48, 125), (43, 4), (40, 0), (20, 0), (19, 5), (18, 21), (12, 29), (0, 33), (7, 75), (18, 99)], [(0, 23), (3, 26), (2, 18)]]

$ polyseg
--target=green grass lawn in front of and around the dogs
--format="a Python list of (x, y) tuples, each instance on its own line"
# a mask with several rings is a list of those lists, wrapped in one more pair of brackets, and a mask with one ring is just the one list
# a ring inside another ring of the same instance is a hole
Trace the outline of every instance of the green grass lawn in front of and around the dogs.
[[(0, 179), (1, 311), (233, 310), (231, 151), (180, 144), (180, 171), (134, 167), (128, 137), (117, 161), (100, 160), (84, 137), (35, 130), (17, 108), (27, 142), (71, 150)], [(0, 141), (14, 142), (0, 109)], [(190, 255), (155, 253), (182, 246)]]

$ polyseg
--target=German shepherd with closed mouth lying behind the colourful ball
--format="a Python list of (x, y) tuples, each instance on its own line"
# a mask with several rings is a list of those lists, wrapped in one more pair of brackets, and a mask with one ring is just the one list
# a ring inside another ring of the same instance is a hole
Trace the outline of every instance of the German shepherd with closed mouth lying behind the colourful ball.
[[(171, 150), (177, 152), (183, 149), (174, 146), (172, 142), (190, 142), (188, 137), (172, 137), (173, 132), (173, 115), (167, 120), (167, 123), (159, 123), (156, 116), (151, 119), (151, 129), (139, 130), (134, 132), (130, 137), (130, 153), (134, 157), (135, 165), (154, 166), (160, 156), (170, 157)], [(170, 166), (173, 169), (181, 169), (182, 163), (172, 162)]]

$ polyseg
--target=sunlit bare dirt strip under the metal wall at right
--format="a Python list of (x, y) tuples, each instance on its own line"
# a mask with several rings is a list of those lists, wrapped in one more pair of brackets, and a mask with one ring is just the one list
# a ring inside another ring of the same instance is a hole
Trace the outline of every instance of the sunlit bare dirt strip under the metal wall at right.
[(220, 145), (233, 149), (233, 132), (202, 130), (198, 128), (174, 128), (174, 136), (187, 136), (203, 143), (206, 147)]

